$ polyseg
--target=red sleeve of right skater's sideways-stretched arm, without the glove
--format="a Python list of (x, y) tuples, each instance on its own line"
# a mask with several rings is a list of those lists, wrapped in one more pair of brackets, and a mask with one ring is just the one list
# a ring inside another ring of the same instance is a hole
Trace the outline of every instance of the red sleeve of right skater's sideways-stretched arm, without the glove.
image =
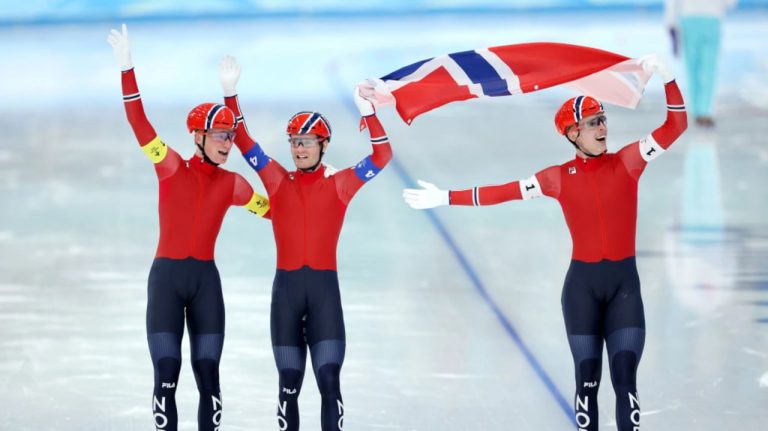
[(521, 199), (549, 196), (557, 199), (560, 194), (560, 167), (552, 166), (536, 175), (501, 185), (473, 187), (468, 190), (452, 190), (448, 194), (451, 205), (496, 205)]

